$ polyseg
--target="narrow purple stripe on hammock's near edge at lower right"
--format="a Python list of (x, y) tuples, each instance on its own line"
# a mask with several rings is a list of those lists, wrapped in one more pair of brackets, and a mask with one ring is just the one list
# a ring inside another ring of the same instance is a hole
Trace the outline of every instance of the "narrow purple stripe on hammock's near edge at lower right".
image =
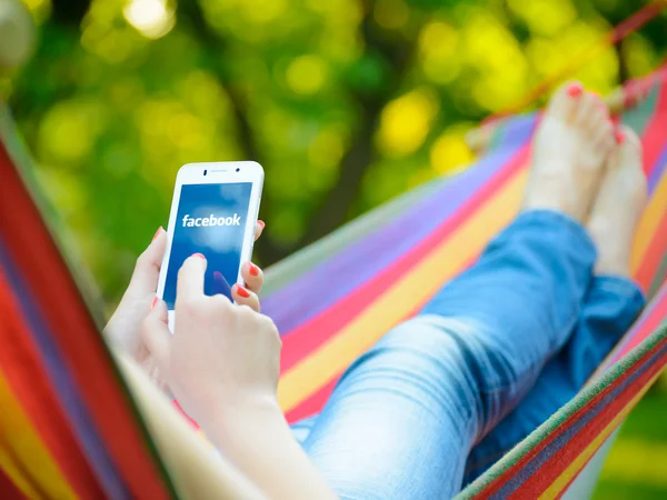
[(667, 354), (667, 344), (659, 348), (648, 358), (643, 366), (637, 369), (631, 376), (625, 379), (618, 384), (617, 388), (609, 391), (609, 393), (598, 401), (595, 407), (588, 409), (581, 417), (579, 417), (573, 426), (566, 429), (560, 436), (554, 441), (547, 444), (535, 458), (532, 458), (526, 466), (524, 466), (517, 473), (512, 474), (512, 478), (502, 486), (496, 493), (489, 497), (489, 500), (500, 500), (508, 498), (517, 489), (521, 487), (524, 482), (535, 476), (539, 469), (561, 448), (568, 446), (569, 441), (588, 424), (598, 413), (604, 411), (608, 404), (614, 402), (630, 384), (633, 384), (639, 377), (646, 373), (655, 363), (659, 362), (660, 359)]

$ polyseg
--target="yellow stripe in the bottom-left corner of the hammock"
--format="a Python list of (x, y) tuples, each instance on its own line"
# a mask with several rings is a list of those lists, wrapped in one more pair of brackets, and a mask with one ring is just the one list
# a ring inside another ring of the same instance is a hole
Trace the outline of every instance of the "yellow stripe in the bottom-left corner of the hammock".
[[(49, 450), (33, 429), (0, 371), (0, 466), (30, 499), (39, 498), (37, 484), (50, 498), (77, 499)], [(24, 474), (29, 473), (27, 478)]]

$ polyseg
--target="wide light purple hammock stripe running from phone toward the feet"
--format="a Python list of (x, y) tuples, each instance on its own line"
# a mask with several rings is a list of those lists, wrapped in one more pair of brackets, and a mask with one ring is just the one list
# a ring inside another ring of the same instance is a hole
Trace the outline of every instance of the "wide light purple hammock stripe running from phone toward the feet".
[[(535, 124), (535, 116), (519, 117), (508, 124), (507, 142), (451, 181), (430, 192), (406, 213), (397, 217), (302, 277), (262, 300), (282, 336), (319, 314), (357, 289), (450, 218), (525, 144)], [(360, 262), (360, 258), (368, 258)]]

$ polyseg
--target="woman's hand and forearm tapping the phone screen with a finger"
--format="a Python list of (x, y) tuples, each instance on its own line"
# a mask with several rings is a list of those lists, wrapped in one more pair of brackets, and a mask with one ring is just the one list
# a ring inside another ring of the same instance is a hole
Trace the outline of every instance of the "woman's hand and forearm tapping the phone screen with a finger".
[(142, 337), (156, 364), (185, 411), (267, 498), (337, 498), (278, 407), (276, 326), (226, 296), (205, 296), (206, 267), (192, 256), (178, 273), (173, 336), (165, 302), (146, 318)]

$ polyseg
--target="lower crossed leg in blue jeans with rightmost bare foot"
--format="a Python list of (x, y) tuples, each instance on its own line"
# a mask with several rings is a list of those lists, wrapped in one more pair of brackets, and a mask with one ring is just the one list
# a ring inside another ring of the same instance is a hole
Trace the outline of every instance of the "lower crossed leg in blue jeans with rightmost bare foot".
[(574, 398), (644, 307), (641, 291), (629, 279), (629, 258), (635, 228), (646, 204), (646, 181), (637, 137), (627, 129), (621, 129), (621, 133), (624, 140), (609, 158), (588, 222), (599, 258), (579, 322), (532, 390), (472, 449), (466, 466), (466, 483)]

